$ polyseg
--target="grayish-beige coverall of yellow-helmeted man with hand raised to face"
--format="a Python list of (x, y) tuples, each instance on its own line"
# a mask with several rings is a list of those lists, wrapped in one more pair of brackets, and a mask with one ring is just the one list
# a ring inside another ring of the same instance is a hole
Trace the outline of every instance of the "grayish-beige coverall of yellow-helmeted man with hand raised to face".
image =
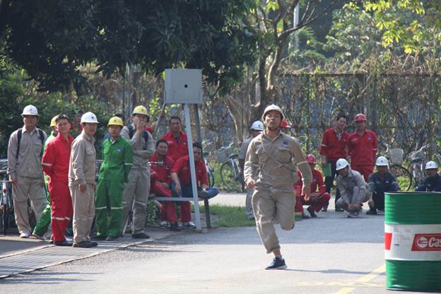
[(134, 232), (132, 234), (143, 233), (147, 218), (147, 199), (150, 192), (150, 163), (148, 158), (151, 158), (155, 151), (153, 137), (147, 131), (148, 140), (144, 139), (143, 133), (140, 136), (136, 135), (136, 128), (134, 128), (133, 137), (129, 136), (129, 128), (124, 127), (121, 131), (122, 138), (131, 143), (133, 147), (134, 163), (129, 173), (129, 182), (124, 187), (124, 194), (122, 199), (122, 227), (129, 213), (131, 201), (135, 197), (134, 204)]

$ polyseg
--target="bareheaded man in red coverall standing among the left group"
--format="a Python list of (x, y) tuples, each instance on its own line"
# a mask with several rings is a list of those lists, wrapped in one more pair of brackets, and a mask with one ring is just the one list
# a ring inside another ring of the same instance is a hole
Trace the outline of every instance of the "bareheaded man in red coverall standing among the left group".
[(73, 138), (69, 135), (71, 122), (65, 114), (55, 120), (58, 135), (50, 141), (42, 158), (42, 167), (49, 176), (49, 194), (52, 205), (52, 237), (55, 246), (72, 246), (64, 237), (64, 231), (73, 215), (72, 198), (69, 192), (69, 159)]

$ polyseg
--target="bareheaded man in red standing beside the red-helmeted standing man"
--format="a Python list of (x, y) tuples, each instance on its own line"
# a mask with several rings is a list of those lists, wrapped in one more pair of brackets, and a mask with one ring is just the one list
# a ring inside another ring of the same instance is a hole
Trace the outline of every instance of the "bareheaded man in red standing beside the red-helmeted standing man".
[[(326, 190), (331, 194), (331, 187), (334, 185), (335, 177), (339, 176), (336, 171), (336, 162), (339, 158), (348, 157), (348, 138), (349, 134), (344, 130), (348, 118), (345, 114), (338, 114), (334, 127), (324, 131), (322, 136), (322, 145), (320, 146), (320, 154), (322, 155), (322, 163), (331, 165), (331, 176), (324, 178)], [(335, 201), (339, 200), (340, 192), (336, 188)], [(323, 207), (323, 211), (328, 210), (328, 204)], [(343, 211), (336, 207), (335, 211)]]

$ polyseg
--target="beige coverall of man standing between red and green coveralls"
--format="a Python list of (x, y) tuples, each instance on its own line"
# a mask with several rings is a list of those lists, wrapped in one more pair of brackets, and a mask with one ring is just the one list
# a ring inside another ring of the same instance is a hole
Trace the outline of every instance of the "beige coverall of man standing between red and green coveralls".
[[(81, 132), (72, 142), (69, 161), (69, 190), (73, 204), (73, 242), (90, 241), (90, 228), (95, 217), (95, 139)], [(86, 184), (85, 192), (80, 184)]]

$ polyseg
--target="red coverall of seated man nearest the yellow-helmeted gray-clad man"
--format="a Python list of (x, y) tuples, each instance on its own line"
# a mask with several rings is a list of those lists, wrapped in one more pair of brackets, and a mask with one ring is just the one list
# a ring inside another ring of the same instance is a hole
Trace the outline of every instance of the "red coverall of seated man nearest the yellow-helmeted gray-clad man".
[[(158, 158), (156, 157), (156, 153), (153, 154), (152, 158), (150, 159), (151, 162), (158, 161)], [(172, 196), (172, 190), (171, 189), (165, 189), (164, 187), (161, 187), (158, 182), (165, 182), (170, 187), (172, 184), (172, 179), (170, 178), (170, 171), (172, 170), (172, 167), (174, 165), (174, 161), (172, 158), (165, 156), (163, 160), (162, 165), (158, 165), (155, 163), (152, 163), (151, 165), (151, 184), (150, 184), (150, 192), (154, 193), (158, 196), (166, 196), (171, 197)], [(155, 175), (153, 175), (153, 172), (155, 172)], [(183, 218), (184, 215), (187, 215), (189, 213), (188, 203), (187, 202), (180, 202), (180, 208), (181, 208), (181, 220), (182, 222), (188, 222), (186, 217)], [(167, 220), (168, 223), (176, 223), (176, 211), (175, 211), (175, 202), (172, 201), (163, 201), (163, 207), (161, 208), (161, 220)]]

